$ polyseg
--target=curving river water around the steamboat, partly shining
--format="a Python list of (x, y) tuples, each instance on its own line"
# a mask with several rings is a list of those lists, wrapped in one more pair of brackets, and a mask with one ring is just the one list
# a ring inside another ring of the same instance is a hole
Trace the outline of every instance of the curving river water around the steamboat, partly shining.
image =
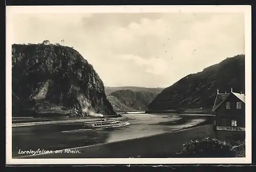
[[(12, 156), (19, 150), (59, 150), (134, 139), (203, 124), (209, 116), (177, 114), (124, 114), (131, 125), (82, 130), (82, 123), (12, 127)], [(211, 121), (211, 120), (210, 120)]]

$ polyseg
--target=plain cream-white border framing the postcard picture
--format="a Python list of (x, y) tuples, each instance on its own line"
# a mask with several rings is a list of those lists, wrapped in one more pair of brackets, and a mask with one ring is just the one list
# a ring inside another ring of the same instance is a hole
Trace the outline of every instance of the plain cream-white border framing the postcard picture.
[[(242, 164), (251, 163), (251, 6), (8, 6), (6, 9), (6, 163), (7, 164)], [(246, 158), (90, 158), (90, 159), (13, 159), (10, 17), (13, 13), (141, 13), (214, 12), (244, 13), (245, 16), (245, 94)]]

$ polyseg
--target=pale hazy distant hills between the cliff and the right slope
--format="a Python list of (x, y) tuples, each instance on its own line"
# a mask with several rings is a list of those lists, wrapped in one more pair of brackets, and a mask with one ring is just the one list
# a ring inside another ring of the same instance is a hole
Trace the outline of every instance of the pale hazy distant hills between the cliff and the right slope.
[(162, 88), (105, 87), (105, 94), (115, 111), (147, 110), (147, 105)]

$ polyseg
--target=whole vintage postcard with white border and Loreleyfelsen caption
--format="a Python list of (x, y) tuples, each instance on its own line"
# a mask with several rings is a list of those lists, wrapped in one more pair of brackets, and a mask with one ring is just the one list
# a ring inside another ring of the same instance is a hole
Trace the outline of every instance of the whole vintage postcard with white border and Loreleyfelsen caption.
[(7, 164), (251, 163), (250, 6), (8, 6)]

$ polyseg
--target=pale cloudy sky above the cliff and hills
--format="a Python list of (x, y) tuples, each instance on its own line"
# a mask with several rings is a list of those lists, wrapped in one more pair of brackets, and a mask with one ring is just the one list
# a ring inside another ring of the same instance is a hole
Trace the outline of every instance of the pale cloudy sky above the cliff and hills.
[(243, 13), (13, 14), (12, 44), (64, 39), (106, 87), (166, 88), (245, 53)]

